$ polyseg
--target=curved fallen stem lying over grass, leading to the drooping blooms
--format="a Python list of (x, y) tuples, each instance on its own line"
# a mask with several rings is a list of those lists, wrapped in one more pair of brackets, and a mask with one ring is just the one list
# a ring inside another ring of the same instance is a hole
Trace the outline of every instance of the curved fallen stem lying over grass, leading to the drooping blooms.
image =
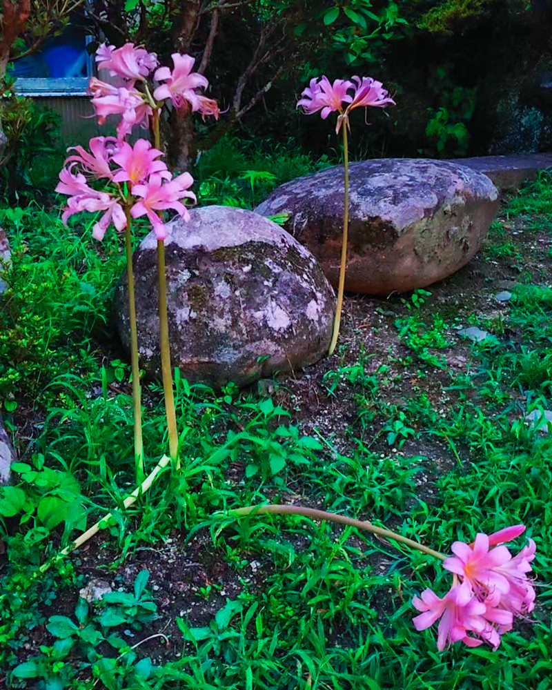
[(424, 544), (420, 544), (412, 539), (403, 537), (402, 534), (397, 534), (389, 529), (384, 529), (384, 527), (378, 527), (371, 522), (355, 520), (354, 517), (338, 515), (337, 513), (326, 513), (326, 511), (319, 511), (315, 508), (267, 504), (264, 506), (247, 506), (246, 508), (238, 508), (230, 511), (230, 515), (232, 517), (246, 517), (250, 515), (299, 515), (301, 517), (310, 517), (312, 520), (329, 520), (330, 522), (346, 524), (350, 527), (362, 529), (365, 532), (380, 535), (380, 537), (391, 539), (394, 542), (399, 542), (400, 544), (406, 544), (406, 546), (410, 546), (411, 549), (417, 549), (418, 551), (422, 551), (422, 553), (426, 553), (434, 558), (438, 558), (439, 560), (445, 560), (445, 558), (447, 558), (446, 555), (439, 553), (439, 551), (433, 551), (433, 549), (430, 549), (428, 546), (424, 546)]

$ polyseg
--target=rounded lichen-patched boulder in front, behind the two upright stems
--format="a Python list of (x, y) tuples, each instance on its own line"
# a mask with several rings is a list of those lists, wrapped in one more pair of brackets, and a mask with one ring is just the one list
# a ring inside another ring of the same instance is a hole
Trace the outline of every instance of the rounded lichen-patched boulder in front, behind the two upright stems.
[[(160, 375), (157, 242), (135, 252), (141, 366)], [(190, 381), (248, 384), (313, 364), (328, 350), (335, 295), (304, 246), (252, 211), (207, 206), (168, 224), (166, 276), (172, 366)], [(115, 295), (129, 348), (126, 274)]]

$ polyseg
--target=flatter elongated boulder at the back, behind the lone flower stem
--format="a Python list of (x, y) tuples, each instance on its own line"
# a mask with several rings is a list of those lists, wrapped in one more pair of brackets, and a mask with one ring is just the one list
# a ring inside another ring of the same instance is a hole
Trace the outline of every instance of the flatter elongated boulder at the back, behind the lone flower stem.
[[(351, 164), (345, 289), (371, 295), (441, 280), (475, 255), (489, 230), (498, 193), (466, 166), (425, 159)], [(285, 228), (319, 260), (337, 286), (342, 245), (342, 166), (278, 187), (256, 209), (288, 213)]]

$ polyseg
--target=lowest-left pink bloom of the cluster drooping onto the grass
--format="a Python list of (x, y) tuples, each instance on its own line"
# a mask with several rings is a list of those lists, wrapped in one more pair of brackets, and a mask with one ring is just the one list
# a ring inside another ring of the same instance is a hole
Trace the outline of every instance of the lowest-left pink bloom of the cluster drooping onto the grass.
[(416, 630), (425, 630), (441, 619), (437, 630), (437, 649), (443, 651), (453, 642), (464, 642), (468, 647), (479, 647), (481, 639), (473, 638), (469, 632), (480, 635), (487, 627), (483, 618), (485, 604), (473, 596), (467, 582), (457, 584), (441, 599), (431, 589), (414, 597), (413, 606), (420, 615), (413, 618)]

